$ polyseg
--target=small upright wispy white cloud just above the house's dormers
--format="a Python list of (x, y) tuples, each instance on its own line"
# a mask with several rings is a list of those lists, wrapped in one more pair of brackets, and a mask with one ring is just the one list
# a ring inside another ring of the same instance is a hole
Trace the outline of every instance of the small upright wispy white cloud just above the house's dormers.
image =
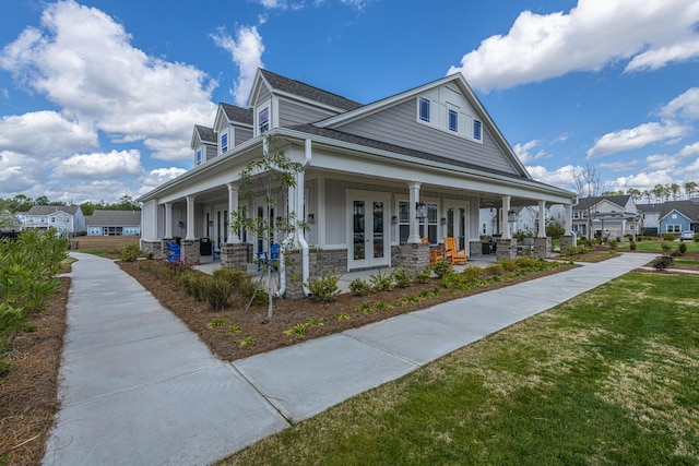
[(256, 26), (241, 26), (238, 28), (235, 39), (223, 31), (212, 37), (218, 47), (230, 53), (234, 63), (240, 70), (238, 80), (234, 83), (232, 95), (236, 105), (245, 106), (258, 68), (263, 68), (264, 44), (262, 44), (262, 36)]

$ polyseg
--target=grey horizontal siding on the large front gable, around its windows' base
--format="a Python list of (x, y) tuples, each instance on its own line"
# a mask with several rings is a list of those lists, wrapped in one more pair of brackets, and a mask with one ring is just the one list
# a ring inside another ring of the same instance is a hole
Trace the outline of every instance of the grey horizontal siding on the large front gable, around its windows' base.
[(411, 98), (357, 121), (335, 128), (402, 147), (520, 175), (483, 126), (483, 144), (417, 122), (417, 104)]

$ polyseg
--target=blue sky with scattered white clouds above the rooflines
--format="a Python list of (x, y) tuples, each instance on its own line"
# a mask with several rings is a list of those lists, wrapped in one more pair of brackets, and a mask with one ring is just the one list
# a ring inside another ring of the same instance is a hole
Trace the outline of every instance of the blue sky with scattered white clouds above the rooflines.
[(0, 198), (147, 192), (258, 67), (365, 104), (462, 72), (537, 180), (699, 182), (696, 0), (3, 0), (0, 26)]

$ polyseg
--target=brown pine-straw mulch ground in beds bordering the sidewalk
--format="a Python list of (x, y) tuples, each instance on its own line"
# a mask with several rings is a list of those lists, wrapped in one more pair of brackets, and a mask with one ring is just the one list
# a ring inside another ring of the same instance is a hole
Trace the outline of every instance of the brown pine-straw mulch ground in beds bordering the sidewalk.
[[(90, 248), (93, 249), (93, 248)], [(104, 249), (97, 247), (94, 249)], [(594, 251), (576, 260), (599, 261), (609, 254)], [(683, 259), (699, 260), (699, 254), (687, 254)], [(142, 261), (140, 261), (142, 262)], [(158, 279), (140, 270), (139, 263), (122, 263), (123, 270), (134, 276), (153, 295), (170, 309), (214, 354), (224, 360), (234, 360), (282, 346), (294, 345), (306, 339), (341, 332), (346, 328), (377, 322), (393, 315), (424, 309), (438, 302), (462, 296), (498, 289), (518, 282), (532, 279), (556, 272), (545, 272), (511, 282), (499, 282), (467, 292), (442, 292), (439, 296), (419, 300), (406, 306), (395, 306), (388, 310), (377, 310), (370, 314), (358, 312), (358, 308), (369, 302), (394, 304), (407, 295), (419, 296), (424, 289), (433, 290), (437, 283), (415, 285), (411, 288), (394, 288), (392, 291), (374, 294), (368, 297), (342, 295), (335, 302), (319, 303), (308, 300), (277, 300), (272, 321), (261, 324), (266, 307), (252, 306), (244, 312), (246, 303), (237, 303), (221, 312), (210, 311), (205, 304), (193, 301), (174, 284)], [(682, 266), (699, 270), (698, 266)], [(560, 272), (560, 268), (557, 272)], [(673, 273), (672, 268), (667, 273)], [(49, 301), (46, 310), (33, 319), (34, 331), (20, 335), (14, 340), (12, 354), (5, 358), (14, 362), (9, 374), (0, 379), (0, 465), (38, 465), (44, 456), (48, 432), (54, 425), (54, 415), (59, 408), (57, 399), (58, 370), (66, 333), (66, 308), (69, 297), (70, 278), (61, 278), (61, 287)], [(346, 314), (347, 319), (336, 315)], [(214, 319), (224, 319), (223, 326), (211, 328)], [(309, 319), (322, 321), (322, 325), (309, 325), (304, 337), (286, 335), (284, 331)], [(229, 333), (232, 326), (239, 327)], [(240, 347), (244, 338), (254, 338), (256, 343)]]

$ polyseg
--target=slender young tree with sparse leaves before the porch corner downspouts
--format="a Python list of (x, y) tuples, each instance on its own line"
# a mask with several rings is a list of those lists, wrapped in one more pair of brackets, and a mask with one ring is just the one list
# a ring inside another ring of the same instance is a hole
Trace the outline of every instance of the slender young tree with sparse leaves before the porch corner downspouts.
[[(308, 229), (308, 225), (298, 219), (294, 212), (285, 212), (285, 215), (280, 215), (281, 210), (277, 206), (285, 199), (288, 189), (296, 188), (296, 176), (304, 170), (304, 165), (293, 162), (284, 154), (283, 150), (274, 148), (275, 145), (275, 139), (268, 136), (264, 140), (262, 156), (246, 164), (238, 176), (240, 199), (252, 200), (261, 196), (264, 215), (250, 217), (246, 208), (232, 212), (230, 228), (234, 230), (245, 229), (258, 240), (262, 240), (265, 251), (269, 251), (270, 244), (273, 242), (280, 243), (280, 258), (282, 258), (288, 248), (288, 244), (282, 239), (299, 228)], [(263, 276), (276, 266), (279, 263), (271, 261), (264, 264)], [(273, 280), (271, 274), (266, 275), (268, 312), (262, 323), (268, 323), (274, 313)]]

